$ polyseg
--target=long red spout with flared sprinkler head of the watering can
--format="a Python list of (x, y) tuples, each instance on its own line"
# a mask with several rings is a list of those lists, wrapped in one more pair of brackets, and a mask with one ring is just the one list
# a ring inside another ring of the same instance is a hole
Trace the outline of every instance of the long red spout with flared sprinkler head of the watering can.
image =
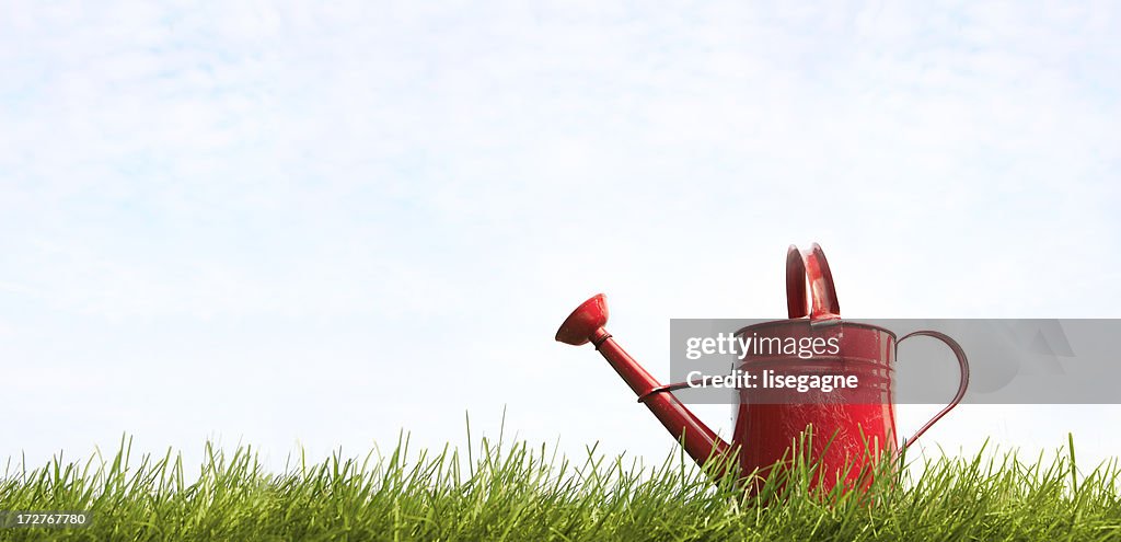
[(591, 342), (615, 373), (630, 386), (667, 431), (684, 443), (686, 453), (704, 467), (720, 458), (716, 476), (722, 476), (730, 465), (725, 459), (732, 445), (716, 435), (704, 422), (689, 412), (670, 389), (663, 386), (630, 357), (604, 329), (608, 323), (606, 296), (597, 294), (581, 304), (557, 330), (556, 340), (573, 346)]

